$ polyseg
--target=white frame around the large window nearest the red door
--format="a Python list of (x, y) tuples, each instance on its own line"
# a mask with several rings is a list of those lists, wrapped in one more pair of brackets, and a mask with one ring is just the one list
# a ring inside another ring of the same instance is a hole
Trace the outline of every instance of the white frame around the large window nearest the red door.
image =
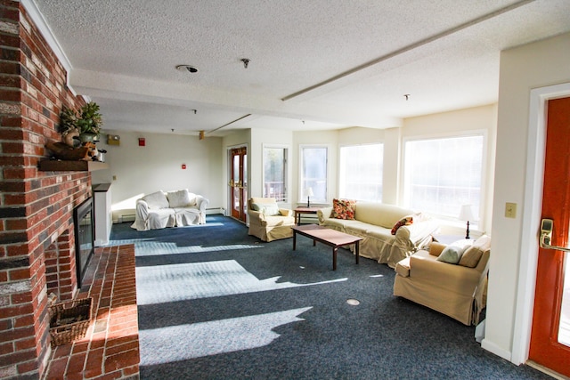
[[(479, 191), (479, 207), (478, 209), (473, 208), (473, 213), (476, 216), (476, 221), (469, 221), (469, 223), (478, 228), (478, 229), (482, 229), (484, 228), (484, 221), (485, 221), (485, 215), (484, 215), (484, 210), (485, 210), (485, 203), (486, 203), (486, 199), (487, 199), (487, 161), (488, 161), (488, 144), (489, 144), (489, 139), (488, 139), (488, 132), (485, 129), (475, 129), (475, 130), (468, 130), (468, 131), (458, 131), (455, 133), (434, 133), (434, 134), (423, 134), (423, 135), (414, 135), (414, 136), (409, 136), (409, 137), (403, 137), (402, 140), (402, 153), (401, 153), (401, 162), (402, 162), (402, 173), (401, 173), (401, 179), (400, 179), (400, 186), (401, 186), (401, 191), (400, 191), (400, 196), (403, 199), (403, 206), (406, 207), (411, 207), (410, 204), (410, 196), (409, 193), (406, 188), (407, 186), (407, 177), (408, 177), (408, 166), (406, 163), (406, 150), (407, 148), (407, 142), (410, 141), (428, 141), (428, 140), (443, 140), (443, 139), (452, 139), (452, 138), (463, 138), (463, 137), (482, 137), (483, 138), (483, 144), (482, 144), (482, 148), (481, 148), (481, 178), (480, 178), (480, 183), (481, 183), (481, 188)], [(418, 211), (422, 211), (422, 210), (418, 210)], [(457, 215), (455, 216), (449, 216), (449, 215), (444, 215), (444, 214), (432, 214), (429, 213), (432, 216), (438, 218), (438, 219), (442, 219), (442, 220), (448, 220), (448, 221), (452, 221), (452, 222), (458, 222), (459, 221), (459, 214), (460, 214), (460, 209), (458, 208), (457, 211)], [(461, 222), (462, 223), (462, 222)]]

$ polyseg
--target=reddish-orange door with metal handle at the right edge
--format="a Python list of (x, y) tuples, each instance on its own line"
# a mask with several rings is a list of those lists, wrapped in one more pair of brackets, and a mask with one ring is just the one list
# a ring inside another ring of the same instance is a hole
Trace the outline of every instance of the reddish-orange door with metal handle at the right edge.
[[(550, 245), (560, 247), (568, 245), (570, 224), (568, 147), (570, 98), (551, 100), (548, 102), (542, 218), (553, 221)], [(530, 360), (564, 376), (570, 376), (570, 274), (565, 273), (568, 255), (561, 250), (539, 249), (529, 352)], [(570, 266), (567, 269), (570, 271)]]

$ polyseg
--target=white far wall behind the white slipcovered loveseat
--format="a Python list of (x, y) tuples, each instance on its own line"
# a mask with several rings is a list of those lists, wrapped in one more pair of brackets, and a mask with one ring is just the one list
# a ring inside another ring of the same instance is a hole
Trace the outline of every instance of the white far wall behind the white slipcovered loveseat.
[[(92, 179), (112, 183), (115, 222), (120, 215), (134, 214), (137, 198), (157, 190), (188, 189), (208, 198), (208, 208), (224, 206), (221, 138), (200, 141), (197, 136), (174, 133), (105, 132), (120, 135), (120, 145), (107, 145), (102, 135), (97, 145), (107, 150), (105, 162), (110, 169), (92, 172)], [(139, 137), (145, 138), (146, 146), (138, 146)]]

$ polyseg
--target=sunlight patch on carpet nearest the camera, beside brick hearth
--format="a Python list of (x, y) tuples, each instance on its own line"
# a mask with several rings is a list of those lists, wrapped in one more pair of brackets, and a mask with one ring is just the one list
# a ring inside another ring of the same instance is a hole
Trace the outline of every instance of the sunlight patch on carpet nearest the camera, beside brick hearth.
[(140, 330), (141, 366), (263, 347), (280, 336), (273, 328), (305, 320), (297, 315), (310, 309)]

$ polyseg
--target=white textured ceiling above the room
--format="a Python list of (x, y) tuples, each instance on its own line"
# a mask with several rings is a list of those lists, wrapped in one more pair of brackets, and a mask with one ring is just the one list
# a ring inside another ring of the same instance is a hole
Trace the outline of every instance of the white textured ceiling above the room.
[(568, 0), (33, 3), (104, 128), (207, 136), (387, 128), (493, 103), (501, 50), (570, 31)]

